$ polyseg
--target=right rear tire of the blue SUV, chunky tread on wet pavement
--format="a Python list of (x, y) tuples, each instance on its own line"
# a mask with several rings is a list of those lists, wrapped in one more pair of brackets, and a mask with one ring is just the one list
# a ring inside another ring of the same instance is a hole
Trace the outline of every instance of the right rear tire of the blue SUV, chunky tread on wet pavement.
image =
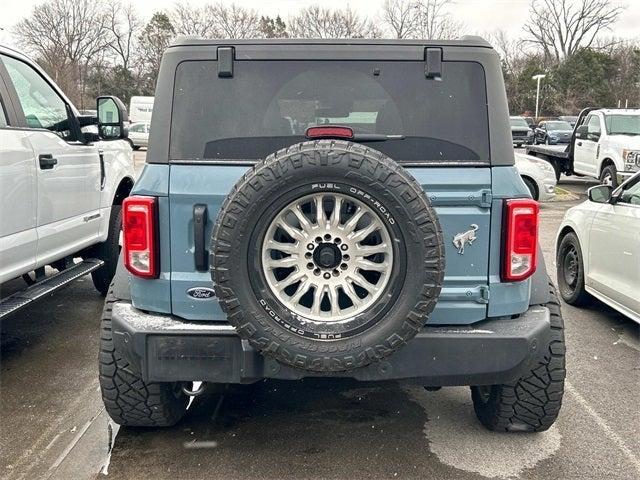
[(549, 294), (551, 337), (531, 371), (511, 383), (471, 387), (476, 416), (489, 430), (543, 432), (558, 417), (566, 374), (564, 322), (551, 282)]

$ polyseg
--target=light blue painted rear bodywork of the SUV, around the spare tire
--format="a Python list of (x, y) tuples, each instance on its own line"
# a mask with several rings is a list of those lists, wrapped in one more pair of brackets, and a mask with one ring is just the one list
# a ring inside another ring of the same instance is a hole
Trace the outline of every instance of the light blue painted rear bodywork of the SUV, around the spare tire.
[[(170, 171), (169, 171), (170, 170)], [(194, 263), (193, 206), (207, 205), (207, 238), (228, 192), (244, 174), (244, 166), (148, 165), (135, 194), (160, 199), (161, 275), (157, 280), (131, 279), (134, 305), (156, 312), (172, 312), (189, 320), (225, 321), (215, 298), (187, 295), (193, 287), (210, 287), (209, 272)], [(502, 199), (527, 197), (514, 167), (410, 168), (428, 193), (438, 214), (445, 243), (443, 290), (431, 325), (470, 324), (488, 316), (524, 312), (529, 281), (500, 283)], [(168, 221), (167, 221), (168, 220)], [(477, 239), (459, 255), (453, 236), (478, 226)], [(170, 248), (170, 245), (173, 248)]]

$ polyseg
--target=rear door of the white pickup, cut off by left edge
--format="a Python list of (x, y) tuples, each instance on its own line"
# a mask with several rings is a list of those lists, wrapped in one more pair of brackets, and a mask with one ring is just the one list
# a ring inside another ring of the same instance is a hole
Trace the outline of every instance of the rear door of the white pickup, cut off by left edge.
[(36, 263), (36, 160), (0, 78), (0, 284)]

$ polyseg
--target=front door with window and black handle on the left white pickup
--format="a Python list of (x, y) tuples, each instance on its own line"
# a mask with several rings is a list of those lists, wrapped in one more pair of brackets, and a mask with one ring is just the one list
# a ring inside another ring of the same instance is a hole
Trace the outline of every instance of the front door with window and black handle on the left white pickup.
[(8, 88), (36, 158), (36, 266), (96, 242), (100, 227), (100, 157), (74, 138), (71, 107), (32, 65), (3, 55)]

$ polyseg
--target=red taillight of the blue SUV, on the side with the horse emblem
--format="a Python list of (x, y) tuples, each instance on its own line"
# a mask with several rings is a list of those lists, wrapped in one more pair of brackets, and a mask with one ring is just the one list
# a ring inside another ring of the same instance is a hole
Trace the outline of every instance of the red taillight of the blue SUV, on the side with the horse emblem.
[(538, 262), (538, 202), (507, 200), (504, 207), (502, 280), (525, 280), (536, 271)]

